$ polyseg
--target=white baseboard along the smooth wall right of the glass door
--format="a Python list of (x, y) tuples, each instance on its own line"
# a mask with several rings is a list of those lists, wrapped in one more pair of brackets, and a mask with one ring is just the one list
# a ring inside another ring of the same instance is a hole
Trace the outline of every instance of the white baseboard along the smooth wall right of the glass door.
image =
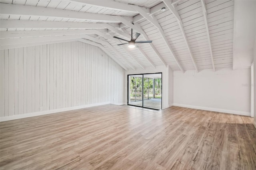
[(211, 108), (211, 107), (202, 107), (202, 106), (192, 106), (192, 105), (183, 105), (178, 103), (173, 103), (174, 106), (179, 107), (187, 107), (192, 109), (200, 109), (200, 110), (206, 110), (206, 111), (214, 111), (214, 112), (221, 112), (221, 113), (231, 113), (235, 115), (243, 115), (243, 116), (250, 116), (250, 112), (244, 112), (244, 111), (234, 111), (234, 110), (227, 110), (227, 109), (217, 109), (217, 108)]

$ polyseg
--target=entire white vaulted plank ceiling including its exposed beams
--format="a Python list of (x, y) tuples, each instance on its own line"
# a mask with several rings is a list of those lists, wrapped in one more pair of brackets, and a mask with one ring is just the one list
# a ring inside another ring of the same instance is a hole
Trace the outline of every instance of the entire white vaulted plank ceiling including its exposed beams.
[[(184, 72), (232, 67), (234, 0), (116, 0), (111, 6), (108, 0), (0, 2), (1, 49), (31, 45), (33, 40), (40, 45), (77, 39), (97, 43), (128, 69), (169, 65)], [(124, 42), (112, 37), (129, 40), (130, 26), (142, 34), (138, 41), (149, 39), (152, 45), (118, 46)]]

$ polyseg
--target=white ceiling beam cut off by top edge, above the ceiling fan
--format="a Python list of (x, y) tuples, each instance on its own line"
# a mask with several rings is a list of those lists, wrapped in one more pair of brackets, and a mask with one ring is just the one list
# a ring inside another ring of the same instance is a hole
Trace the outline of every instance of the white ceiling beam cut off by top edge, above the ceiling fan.
[[(131, 8), (128, 4), (117, 2), (117, 1), (110, 1), (110, 0), (71, 0), (71, 1), (79, 2), (82, 4), (91, 5), (91, 6), (108, 8), (112, 10), (138, 13), (136, 10)], [(147, 13), (149, 13), (149, 8), (144, 8), (144, 7), (141, 7), (141, 8), (143, 8)]]

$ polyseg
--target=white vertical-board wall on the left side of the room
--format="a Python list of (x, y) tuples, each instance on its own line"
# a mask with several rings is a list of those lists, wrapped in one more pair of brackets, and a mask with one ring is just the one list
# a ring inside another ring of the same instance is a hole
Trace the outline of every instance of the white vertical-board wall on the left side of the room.
[(0, 71), (1, 117), (123, 103), (124, 70), (86, 43), (1, 50)]

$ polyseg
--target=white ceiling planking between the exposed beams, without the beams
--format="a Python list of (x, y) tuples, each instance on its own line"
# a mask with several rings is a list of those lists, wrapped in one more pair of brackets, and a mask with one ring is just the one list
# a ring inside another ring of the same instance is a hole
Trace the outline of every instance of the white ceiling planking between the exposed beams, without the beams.
[[(25, 5), (26, 7), (31, 6), (35, 9), (44, 8), (46, 10), (53, 11), (52, 14), (54, 14), (54, 10), (61, 10), (64, 11), (66, 14), (70, 12), (74, 14), (74, 12), (78, 12), (79, 14), (81, 14), (81, 17), (83, 16), (83, 14), (84, 16), (87, 15), (87, 18), (71, 16), (70, 18), (68, 18), (68, 16), (46, 16), (45, 14), (42, 16), (38, 14), (24, 15), (23, 13), (1, 14), (1, 20), (4, 20), (3, 24), (1, 24), (1, 31), (14, 32), (32, 30), (32, 32), (43, 32), (45, 30), (56, 30), (58, 31), (58, 35), (62, 35), (62, 31), (64, 32), (64, 34), (67, 31), (74, 31), (74, 34), (77, 35), (79, 34), (80, 30), (82, 32), (85, 32), (86, 29), (90, 28), (100, 27), (103, 30), (102, 26), (93, 26), (91, 24), (89, 25), (88, 23), (110, 24), (110, 21), (106, 20), (106, 16), (104, 16), (105, 19), (100, 18), (96, 20), (95, 18), (90, 18), (90, 15), (88, 15), (88, 13), (97, 14), (97, 16), (117, 15), (134, 17), (133, 19), (135, 20), (136, 24), (138, 24), (138, 26), (142, 28), (143, 32), (145, 32), (146, 36), (153, 41), (152, 46), (146, 43), (139, 44), (141, 50), (144, 51), (144, 53), (154, 63), (154, 65), (162, 65), (162, 61), (158, 57), (158, 55), (160, 55), (160, 57), (163, 58), (164, 62), (170, 65), (172, 70), (179, 70), (177, 64), (172, 57), (172, 54), (167, 49), (166, 43), (164, 43), (164, 39), (158, 31), (158, 28), (156, 28), (147, 19), (143, 18), (140, 14), (136, 12), (104, 8), (104, 4), (101, 4), (101, 6), (92, 6), (89, 4), (83, 4), (80, 2), (74, 2), (69, 0), (0, 0), (0, 2), (7, 4)], [(166, 7), (164, 2), (160, 0), (116, 0), (116, 2), (120, 2), (120, 4), (134, 4), (144, 7), (144, 9), (151, 8), (146, 10), (154, 13), (157, 22), (163, 30), (165, 39), (170, 44), (170, 47), (173, 49), (174, 54), (177, 56), (177, 59), (178, 61), (180, 61), (184, 70), (195, 69), (193, 68), (193, 63), (190, 59), (188, 47), (186, 46), (186, 42), (184, 40), (184, 36), (182, 35), (182, 31), (178, 25), (177, 19), (174, 14), (172, 14), (172, 12)], [(177, 2), (176, 0), (173, 0), (172, 3), (174, 3), (174, 7), (177, 10), (178, 15), (182, 21), (184, 33), (186, 34), (191, 53), (194, 56), (194, 60), (196, 62), (196, 65), (198, 66), (198, 69), (201, 70), (211, 68), (210, 48), (206, 32), (206, 23), (204, 20), (202, 3), (200, 2), (200, 0), (179, 0)], [(244, 3), (246, 4), (248, 2), (244, 1)], [(216, 68), (231, 67), (234, 42), (234, 0), (205, 0), (205, 4), (210, 42), (212, 45), (211, 49), (214, 62), (216, 62)], [(162, 12), (160, 10), (162, 7), (166, 7), (166, 11)], [(27, 11), (27, 13), (29, 12), (31, 11)], [(32, 24), (32, 22), (34, 24)], [(6, 25), (5, 23), (7, 23), (9, 27), (4, 28), (3, 26)], [(124, 28), (122, 31), (126, 33), (124, 34), (122, 32), (119, 32), (122, 33), (123, 36), (114, 33), (114, 36), (118, 36), (127, 40), (130, 38), (130, 27), (124, 26), (123, 23), (119, 24), (119, 20), (111, 21), (111, 23), (114, 23), (116, 28), (119, 28), (119, 26), (121, 26), (121, 28)], [(112, 32), (111, 30), (108, 31)], [(238, 32), (242, 31), (242, 29), (238, 30)], [(136, 31), (134, 30), (134, 33), (135, 32)], [(21, 33), (19, 32), (18, 34)], [(52, 33), (49, 32), (45, 34), (45, 36), (50, 34)], [(67, 33), (67, 35), (70, 34), (72, 33)], [(126, 36), (124, 37), (124, 35)], [(145, 40), (145, 38), (141, 35), (138, 38), (138, 41), (143, 40)], [(113, 41), (111, 39), (107, 39), (107, 41), (116, 49), (116, 51), (118, 51), (118, 53), (120, 53), (120, 55), (124, 57), (124, 59), (126, 59), (131, 65), (133, 65), (134, 68), (140, 67), (136, 63), (136, 61), (134, 61), (134, 59), (132, 59), (130, 55), (128, 55), (127, 52), (124, 51), (122, 47), (117, 45), (116, 41)], [(130, 66), (127, 65), (121, 59), (121, 57), (116, 55), (114, 51), (109, 48), (108, 50), (111, 55), (117, 57), (120, 63), (122, 63), (125, 67), (130, 68)], [(157, 55), (154, 50), (156, 50), (159, 54)], [(151, 64), (148, 62), (147, 59), (145, 59), (145, 57), (138, 49), (131, 49), (130, 54), (133, 55), (134, 58), (144, 67), (150, 67)], [(241, 58), (241, 60), (242, 61), (239, 61), (240, 63), (247, 62), (245, 61), (245, 58)]]

